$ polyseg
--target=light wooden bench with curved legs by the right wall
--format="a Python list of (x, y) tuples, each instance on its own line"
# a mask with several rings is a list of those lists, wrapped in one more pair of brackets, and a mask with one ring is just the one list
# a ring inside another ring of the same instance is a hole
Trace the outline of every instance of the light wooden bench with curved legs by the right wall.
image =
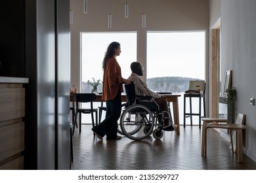
[[(244, 114), (242, 114), (244, 115)], [(245, 115), (244, 115), (245, 116)], [(243, 119), (244, 119), (243, 116)], [(240, 114), (238, 114), (240, 117)], [(240, 121), (238, 119), (237, 121)], [(236, 131), (236, 153), (238, 155), (238, 162), (243, 162), (243, 152), (242, 152), (242, 143), (243, 143), (243, 135), (242, 130), (246, 128), (244, 124), (244, 120), (242, 124), (228, 124), (226, 119), (221, 118), (202, 118), (203, 121), (203, 129), (202, 129), (202, 156), (206, 157), (206, 149), (207, 149), (207, 129), (208, 128), (221, 128), (230, 130), (230, 143), (232, 146), (232, 131)], [(232, 146), (232, 152), (233, 146)]]

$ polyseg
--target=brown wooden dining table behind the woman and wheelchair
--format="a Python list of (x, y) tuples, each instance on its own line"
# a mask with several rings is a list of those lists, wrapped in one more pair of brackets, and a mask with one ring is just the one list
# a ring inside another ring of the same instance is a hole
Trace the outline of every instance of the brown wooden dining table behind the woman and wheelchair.
[[(175, 129), (176, 135), (180, 135), (180, 122), (179, 122), (179, 98), (181, 95), (177, 94), (161, 94), (167, 98), (168, 105), (173, 103), (173, 120), (174, 124), (177, 125)], [(121, 101), (127, 102), (126, 95), (121, 95)], [(70, 102), (74, 103), (74, 93), (70, 93)], [(93, 102), (102, 102), (102, 94), (97, 94), (96, 99)]]

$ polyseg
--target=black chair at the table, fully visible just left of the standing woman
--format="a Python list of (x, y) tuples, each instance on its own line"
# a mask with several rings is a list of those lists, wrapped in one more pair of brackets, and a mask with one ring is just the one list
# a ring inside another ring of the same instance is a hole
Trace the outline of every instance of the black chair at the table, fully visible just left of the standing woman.
[[(75, 93), (74, 101), (75, 101), (75, 124), (73, 128), (73, 134), (75, 130), (75, 125), (77, 125), (77, 114), (79, 113), (79, 133), (81, 133), (81, 113), (83, 114), (91, 114), (91, 119), (93, 123), (93, 127), (95, 126), (95, 118), (96, 125), (98, 124), (98, 108), (93, 108), (93, 101), (96, 99), (95, 93)], [(81, 108), (79, 106), (80, 103), (91, 103), (91, 108)], [(95, 112), (95, 118), (93, 113)]]

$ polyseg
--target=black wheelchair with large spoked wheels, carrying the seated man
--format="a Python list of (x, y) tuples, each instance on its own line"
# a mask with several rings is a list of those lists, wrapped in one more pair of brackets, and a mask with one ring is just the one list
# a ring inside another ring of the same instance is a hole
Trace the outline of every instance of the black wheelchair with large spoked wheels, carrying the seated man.
[[(136, 95), (133, 82), (125, 85), (125, 91), (127, 104), (119, 120), (121, 134), (134, 141), (146, 139), (152, 134), (155, 139), (161, 139), (165, 119), (169, 118), (172, 122), (169, 112), (160, 112), (160, 107), (152, 97)], [(167, 117), (165, 113), (168, 114)], [(160, 122), (158, 118), (161, 119)], [(170, 128), (167, 131), (175, 130), (173, 125)]]

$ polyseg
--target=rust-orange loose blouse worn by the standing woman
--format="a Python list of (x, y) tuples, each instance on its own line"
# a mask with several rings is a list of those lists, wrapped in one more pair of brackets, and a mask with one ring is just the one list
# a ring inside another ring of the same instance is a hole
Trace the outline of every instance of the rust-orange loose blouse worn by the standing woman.
[(103, 74), (102, 100), (108, 101), (116, 97), (118, 90), (123, 92), (123, 78), (121, 67), (116, 58), (108, 59)]

